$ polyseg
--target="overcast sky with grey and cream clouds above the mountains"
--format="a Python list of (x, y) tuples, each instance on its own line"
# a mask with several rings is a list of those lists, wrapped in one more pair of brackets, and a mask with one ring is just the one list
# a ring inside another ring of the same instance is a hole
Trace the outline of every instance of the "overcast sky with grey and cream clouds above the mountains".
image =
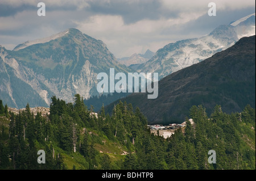
[[(45, 3), (46, 16), (37, 15), (38, 2)], [(216, 16), (208, 15), (209, 2), (216, 3)], [(0, 0), (0, 44), (13, 49), (77, 28), (120, 58), (207, 35), (254, 12), (253, 0)]]

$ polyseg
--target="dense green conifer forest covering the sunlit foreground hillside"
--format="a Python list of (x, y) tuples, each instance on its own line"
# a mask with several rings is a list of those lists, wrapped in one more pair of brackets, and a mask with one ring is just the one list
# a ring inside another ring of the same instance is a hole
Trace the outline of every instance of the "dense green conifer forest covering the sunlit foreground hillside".
[[(27, 104), (18, 114), (0, 102), (0, 169), (255, 169), (255, 109), (207, 115), (193, 106), (186, 127), (170, 138), (150, 133), (147, 119), (119, 102), (112, 115), (98, 115), (79, 94), (75, 103), (52, 97), (50, 112), (34, 115)], [(38, 150), (46, 153), (39, 164)], [(216, 163), (208, 151), (216, 151)]]

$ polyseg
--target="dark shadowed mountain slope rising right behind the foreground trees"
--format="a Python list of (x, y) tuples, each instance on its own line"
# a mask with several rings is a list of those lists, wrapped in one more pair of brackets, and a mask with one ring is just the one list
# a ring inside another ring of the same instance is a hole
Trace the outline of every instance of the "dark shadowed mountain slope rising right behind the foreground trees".
[[(226, 113), (241, 112), (246, 104), (255, 108), (255, 35), (164, 77), (158, 85), (157, 99), (134, 93), (121, 101), (139, 107), (149, 124), (181, 123), (193, 105), (203, 105), (209, 115), (217, 104)], [(111, 113), (118, 102), (107, 106), (106, 112)]]

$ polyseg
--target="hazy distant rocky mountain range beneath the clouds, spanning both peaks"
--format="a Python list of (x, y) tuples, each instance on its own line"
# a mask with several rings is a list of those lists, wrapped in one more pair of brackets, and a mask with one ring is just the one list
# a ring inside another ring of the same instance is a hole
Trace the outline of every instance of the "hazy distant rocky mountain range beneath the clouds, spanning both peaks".
[(147, 50), (122, 60), (117, 60), (101, 40), (75, 28), (26, 41), (14, 50), (0, 45), (0, 99), (10, 107), (23, 108), (28, 102), (31, 107), (49, 107), (53, 95), (67, 102), (72, 102), (75, 94), (90, 98), (98, 95), (97, 74), (109, 74), (109, 68), (123, 73), (158, 72), (163, 78), (253, 33), (255, 14), (217, 27), (209, 35), (168, 44), (155, 54)]

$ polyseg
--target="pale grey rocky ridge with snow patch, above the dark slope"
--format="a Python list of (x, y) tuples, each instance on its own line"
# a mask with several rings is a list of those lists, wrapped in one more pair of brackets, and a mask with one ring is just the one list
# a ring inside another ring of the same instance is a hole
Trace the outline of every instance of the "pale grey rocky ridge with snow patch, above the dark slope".
[[(137, 71), (158, 72), (159, 78), (197, 64), (217, 52), (225, 50), (241, 37), (255, 35), (255, 14), (231, 25), (221, 25), (209, 35), (177, 41), (159, 49), (155, 56), (138, 66)], [(254, 31), (254, 33), (253, 33)]]

